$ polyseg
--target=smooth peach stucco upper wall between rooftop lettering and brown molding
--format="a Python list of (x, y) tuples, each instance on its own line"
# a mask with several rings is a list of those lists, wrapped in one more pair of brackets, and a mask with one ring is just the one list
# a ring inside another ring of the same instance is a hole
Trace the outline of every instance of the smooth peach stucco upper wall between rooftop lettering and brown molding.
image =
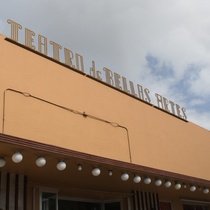
[(210, 178), (208, 130), (4, 39), (1, 35), (2, 133)]

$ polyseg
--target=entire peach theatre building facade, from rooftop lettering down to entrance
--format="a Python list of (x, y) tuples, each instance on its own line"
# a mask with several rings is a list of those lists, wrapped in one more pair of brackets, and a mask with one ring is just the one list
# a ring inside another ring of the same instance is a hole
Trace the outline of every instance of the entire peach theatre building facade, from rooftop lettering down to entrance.
[(210, 209), (208, 130), (38, 38), (0, 35), (0, 209)]

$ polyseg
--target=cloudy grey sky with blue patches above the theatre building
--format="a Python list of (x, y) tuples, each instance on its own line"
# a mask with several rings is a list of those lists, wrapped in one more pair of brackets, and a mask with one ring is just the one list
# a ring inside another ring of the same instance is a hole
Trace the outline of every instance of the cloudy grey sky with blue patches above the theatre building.
[[(0, 0), (7, 19), (185, 107), (210, 130), (209, 0)], [(22, 32), (23, 33), (23, 32)], [(21, 41), (20, 41), (21, 42)]]

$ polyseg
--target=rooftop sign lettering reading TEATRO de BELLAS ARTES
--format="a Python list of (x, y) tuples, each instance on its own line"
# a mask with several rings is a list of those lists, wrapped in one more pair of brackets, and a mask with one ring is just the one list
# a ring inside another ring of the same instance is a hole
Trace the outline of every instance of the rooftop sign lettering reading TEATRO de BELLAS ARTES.
[[(7, 22), (11, 25), (11, 40), (19, 42), (19, 32), (21, 33), (23, 27), (13, 20), (8, 20)], [(50, 51), (52, 51), (51, 59), (54, 61), (70, 67), (72, 70), (76, 70), (80, 73), (83, 73), (84, 75), (90, 76), (108, 86), (114, 87), (115, 89), (129, 94), (132, 97), (135, 97), (149, 105), (159, 108), (182, 120), (187, 120), (186, 109), (181, 107), (179, 104), (174, 103), (173, 101), (161, 96), (158, 93), (152, 97), (148, 88), (144, 88), (139, 84), (136, 85), (132, 81), (127, 80), (125, 77), (111, 71), (106, 67), (104, 67), (102, 71), (97, 70), (94, 61), (92, 61), (90, 64), (89, 72), (86, 72), (82, 55), (74, 53), (68, 48), (63, 48), (60, 44), (54, 41), (48, 41), (46, 37), (40, 34), (36, 35), (34, 31), (28, 28), (25, 28), (24, 31), (25, 43), (23, 45), (25, 47), (30, 48), (31, 50), (34, 50), (37, 53), (40, 53), (49, 58), (48, 47), (50, 46)], [(37, 46), (35, 46), (35, 43), (37, 43)], [(64, 61), (60, 60), (61, 57), (64, 58)], [(155, 102), (152, 102), (152, 98), (154, 98)]]

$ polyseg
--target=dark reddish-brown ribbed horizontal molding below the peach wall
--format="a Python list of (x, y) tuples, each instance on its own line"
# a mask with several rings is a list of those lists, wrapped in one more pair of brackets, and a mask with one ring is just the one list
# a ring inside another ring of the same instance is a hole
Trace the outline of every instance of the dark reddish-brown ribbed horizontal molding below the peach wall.
[(7, 134), (0, 134), (0, 143), (6, 143), (6, 144), (11, 144), (14, 146), (19, 146), (23, 148), (29, 148), (29, 149), (34, 149), (34, 150), (39, 150), (42, 152), (50, 152), (53, 154), (57, 155), (62, 155), (70, 158), (75, 158), (75, 159), (80, 159), (83, 161), (88, 161), (92, 163), (97, 163), (97, 164), (104, 164), (108, 166), (113, 166), (117, 167), (119, 169), (123, 169), (126, 171), (133, 171), (136, 173), (141, 173), (145, 175), (151, 175), (151, 176), (159, 176), (159, 177), (164, 177), (168, 179), (174, 179), (174, 180), (179, 180), (183, 182), (192, 182), (192, 183), (197, 183), (199, 185), (209, 185), (210, 186), (210, 181), (205, 180), (205, 179), (200, 179), (196, 177), (191, 177), (191, 176), (186, 176), (183, 174), (178, 174), (174, 172), (169, 172), (169, 171), (164, 171), (164, 170), (159, 170), (155, 168), (150, 168), (146, 166), (141, 166), (129, 162), (123, 162), (119, 160), (113, 160), (109, 158), (104, 158), (100, 156), (95, 156), (87, 153), (82, 153), (58, 146), (53, 146), (45, 143), (40, 143), (28, 139), (23, 139), (20, 137), (15, 137)]

